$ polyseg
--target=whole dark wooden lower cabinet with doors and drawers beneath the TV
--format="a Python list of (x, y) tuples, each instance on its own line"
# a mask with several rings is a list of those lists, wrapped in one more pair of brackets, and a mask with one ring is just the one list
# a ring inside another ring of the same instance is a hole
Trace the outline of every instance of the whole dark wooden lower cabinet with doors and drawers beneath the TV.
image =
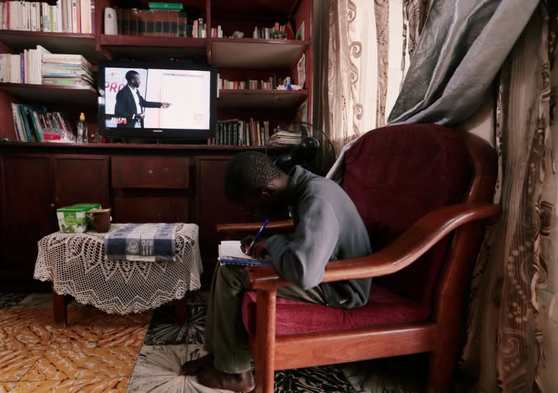
[[(114, 222), (193, 222), (204, 271), (217, 257), (216, 224), (252, 220), (225, 199), (238, 151), (280, 148), (128, 144), (0, 144), (0, 292), (38, 291), (37, 242), (58, 231), (56, 208), (97, 202)], [(209, 279), (209, 277), (206, 277)]]

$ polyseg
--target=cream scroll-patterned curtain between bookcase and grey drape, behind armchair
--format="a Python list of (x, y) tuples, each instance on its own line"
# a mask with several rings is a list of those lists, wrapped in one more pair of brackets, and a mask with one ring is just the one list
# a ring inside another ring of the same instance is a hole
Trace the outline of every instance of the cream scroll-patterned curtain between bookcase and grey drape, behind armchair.
[(315, 108), (339, 153), (364, 132), (386, 124), (416, 47), (429, 0), (330, 0), (329, 36)]

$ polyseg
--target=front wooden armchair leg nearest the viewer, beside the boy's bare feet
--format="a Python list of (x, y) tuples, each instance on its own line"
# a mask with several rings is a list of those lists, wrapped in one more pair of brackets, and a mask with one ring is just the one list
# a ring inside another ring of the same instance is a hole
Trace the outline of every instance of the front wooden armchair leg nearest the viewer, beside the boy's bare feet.
[(277, 291), (257, 291), (254, 367), (256, 393), (273, 393)]

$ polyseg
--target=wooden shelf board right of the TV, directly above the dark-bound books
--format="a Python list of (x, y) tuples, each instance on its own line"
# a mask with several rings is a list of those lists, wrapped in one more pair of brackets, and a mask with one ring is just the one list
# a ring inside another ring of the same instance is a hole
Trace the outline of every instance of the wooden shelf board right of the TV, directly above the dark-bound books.
[(217, 106), (219, 109), (294, 109), (307, 97), (306, 90), (223, 89), (219, 91)]

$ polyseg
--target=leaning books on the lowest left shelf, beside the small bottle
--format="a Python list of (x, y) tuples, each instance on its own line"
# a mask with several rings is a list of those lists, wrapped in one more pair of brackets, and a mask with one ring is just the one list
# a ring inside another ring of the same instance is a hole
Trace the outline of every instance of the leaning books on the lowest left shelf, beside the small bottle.
[(61, 134), (73, 135), (70, 123), (60, 112), (45, 107), (12, 103), (13, 125), (18, 141), (43, 142)]

